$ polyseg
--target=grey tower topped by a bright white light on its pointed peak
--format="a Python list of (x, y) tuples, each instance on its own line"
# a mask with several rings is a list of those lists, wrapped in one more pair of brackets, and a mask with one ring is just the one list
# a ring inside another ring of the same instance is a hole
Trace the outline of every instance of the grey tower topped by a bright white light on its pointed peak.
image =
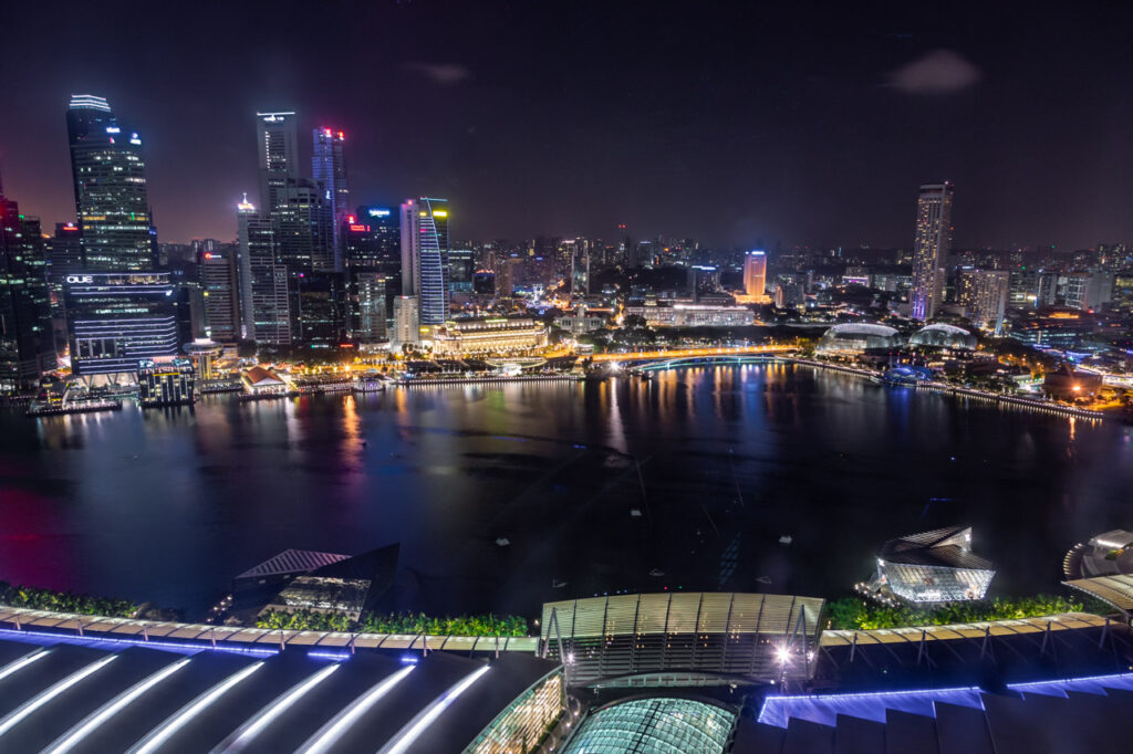
[(265, 345), (291, 344), (287, 266), (280, 264), (271, 219), (247, 195), (237, 206), (244, 337)]

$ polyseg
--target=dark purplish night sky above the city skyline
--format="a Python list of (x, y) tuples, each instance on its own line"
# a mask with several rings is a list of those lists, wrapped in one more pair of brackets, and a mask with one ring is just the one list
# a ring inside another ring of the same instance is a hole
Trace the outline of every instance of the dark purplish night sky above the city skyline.
[(163, 241), (235, 237), (257, 109), (308, 155), (342, 128), (356, 204), (448, 197), (461, 239), (908, 246), (948, 179), (962, 247), (1133, 240), (1123, 3), (150, 5), (5, 6), (0, 175), (45, 226), (91, 93), (142, 134)]

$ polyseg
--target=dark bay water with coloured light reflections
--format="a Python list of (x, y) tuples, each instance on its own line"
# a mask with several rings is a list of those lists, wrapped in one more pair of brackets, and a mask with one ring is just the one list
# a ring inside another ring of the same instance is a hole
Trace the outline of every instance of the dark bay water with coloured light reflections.
[(1133, 528), (1130, 437), (789, 366), (3, 412), (0, 579), (191, 617), (282, 549), (401, 542), (399, 607), (530, 615), (666, 586), (840, 596), (885, 539), (964, 523), (993, 591), (1051, 591), (1067, 548)]

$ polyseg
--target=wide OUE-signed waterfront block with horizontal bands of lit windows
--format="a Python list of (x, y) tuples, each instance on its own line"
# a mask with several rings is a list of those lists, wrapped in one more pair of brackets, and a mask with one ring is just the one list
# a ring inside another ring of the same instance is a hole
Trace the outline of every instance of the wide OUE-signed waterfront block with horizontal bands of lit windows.
[(173, 358), (193, 340), (186, 289), (168, 272), (87, 272), (65, 283), (71, 372), (134, 379), (142, 361)]

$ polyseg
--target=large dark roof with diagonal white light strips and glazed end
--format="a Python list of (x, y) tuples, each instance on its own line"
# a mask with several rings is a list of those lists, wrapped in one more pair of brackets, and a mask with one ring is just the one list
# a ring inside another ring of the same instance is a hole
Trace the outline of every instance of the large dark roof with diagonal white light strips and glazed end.
[[(518, 752), (560, 716), (553, 662), (233, 654), (0, 641), (12, 752)], [(475, 744), (475, 746), (474, 746)]]

